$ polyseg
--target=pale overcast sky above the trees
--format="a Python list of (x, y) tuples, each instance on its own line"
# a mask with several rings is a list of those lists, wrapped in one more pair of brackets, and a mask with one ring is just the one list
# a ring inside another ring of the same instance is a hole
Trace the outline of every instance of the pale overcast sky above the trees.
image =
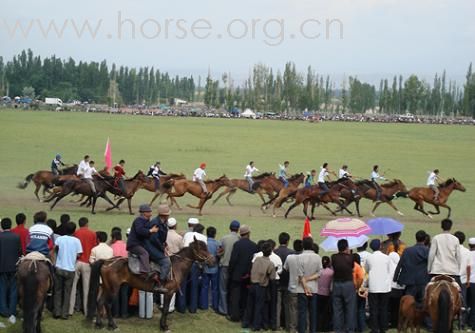
[[(229, 71), (236, 81), (255, 63), (293, 61), (373, 83), (444, 69), (460, 81), (475, 61), (474, 0), (2, 0), (0, 9), (6, 59), (31, 48), (176, 74)], [(62, 36), (46, 35), (50, 22)]]

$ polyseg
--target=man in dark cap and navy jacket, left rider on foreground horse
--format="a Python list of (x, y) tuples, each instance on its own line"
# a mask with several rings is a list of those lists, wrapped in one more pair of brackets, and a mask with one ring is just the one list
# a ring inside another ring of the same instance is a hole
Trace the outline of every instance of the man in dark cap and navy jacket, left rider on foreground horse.
[[(143, 204), (139, 207), (140, 216), (137, 217), (130, 228), (130, 233), (127, 238), (127, 251), (135, 254), (140, 262), (140, 274), (146, 280), (156, 277), (155, 272), (150, 272), (149, 253), (145, 250), (144, 245), (147, 239), (153, 234), (159, 232), (157, 225), (150, 225), (150, 217), (152, 216), (152, 208), (149, 205)], [(155, 282), (160, 283), (160, 280), (155, 278)], [(163, 287), (157, 286), (156, 291), (167, 292)]]

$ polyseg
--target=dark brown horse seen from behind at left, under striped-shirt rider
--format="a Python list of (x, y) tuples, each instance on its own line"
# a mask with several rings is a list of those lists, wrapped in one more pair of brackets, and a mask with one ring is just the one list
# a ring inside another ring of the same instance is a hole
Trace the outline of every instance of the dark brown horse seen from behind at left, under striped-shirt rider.
[[(30, 255), (36, 254), (38, 253), (33, 252)], [(23, 333), (41, 333), (43, 307), (53, 280), (48, 261), (45, 258), (29, 259), (30, 255), (23, 257), (17, 266), (18, 297), (23, 309)]]

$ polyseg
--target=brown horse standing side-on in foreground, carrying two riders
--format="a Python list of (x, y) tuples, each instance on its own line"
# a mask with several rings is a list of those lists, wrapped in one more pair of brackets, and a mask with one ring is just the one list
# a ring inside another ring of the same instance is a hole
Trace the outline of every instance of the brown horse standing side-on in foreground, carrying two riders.
[[(185, 247), (177, 254), (170, 257), (172, 268), (172, 278), (167, 281), (164, 287), (168, 290), (165, 294), (160, 319), (160, 329), (168, 331), (167, 315), (170, 307), (170, 300), (177, 292), (190, 272), (194, 261), (205, 262), (209, 265), (214, 264), (214, 257), (208, 252), (206, 244), (202, 241), (195, 241), (189, 247)], [(101, 292), (99, 293), (100, 278), (102, 278)], [(117, 325), (112, 318), (112, 300), (117, 296), (120, 286), (127, 283), (132, 288), (153, 292), (154, 282), (145, 281), (139, 275), (133, 274), (128, 266), (127, 258), (112, 258), (109, 260), (99, 260), (91, 265), (91, 280), (88, 295), (87, 316), (92, 319), (96, 315), (97, 309), (105, 306), (108, 317), (108, 327), (116, 329)], [(98, 311), (99, 312), (99, 311)], [(96, 327), (102, 327), (102, 318), (100, 313), (96, 315)]]

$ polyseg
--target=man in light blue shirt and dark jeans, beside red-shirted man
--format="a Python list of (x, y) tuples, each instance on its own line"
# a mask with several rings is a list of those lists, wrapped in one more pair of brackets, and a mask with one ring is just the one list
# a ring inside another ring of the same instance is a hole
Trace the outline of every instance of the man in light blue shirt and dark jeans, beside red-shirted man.
[(76, 274), (76, 260), (82, 253), (81, 241), (73, 237), (76, 224), (68, 222), (66, 235), (55, 241), (56, 272), (54, 275), (53, 317), (68, 319), (71, 288)]

